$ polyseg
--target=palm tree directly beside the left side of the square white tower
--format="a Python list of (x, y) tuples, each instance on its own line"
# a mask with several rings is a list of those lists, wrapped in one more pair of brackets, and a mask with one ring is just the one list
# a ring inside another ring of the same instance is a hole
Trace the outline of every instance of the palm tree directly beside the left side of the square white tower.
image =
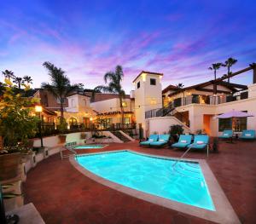
[(124, 106), (123, 99), (125, 98), (125, 90), (121, 86), (121, 81), (124, 78), (124, 72), (122, 66), (116, 66), (114, 72), (107, 72), (104, 75), (105, 83), (108, 83), (107, 86), (99, 85), (94, 89), (95, 91), (102, 91), (106, 93), (112, 93), (119, 95), (119, 106), (121, 110), (122, 122), (124, 122)]

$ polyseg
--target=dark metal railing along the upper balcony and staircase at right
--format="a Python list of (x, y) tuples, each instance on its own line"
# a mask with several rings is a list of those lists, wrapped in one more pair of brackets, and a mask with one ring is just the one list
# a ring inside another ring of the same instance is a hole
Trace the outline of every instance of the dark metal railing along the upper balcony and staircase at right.
[(188, 95), (174, 99), (173, 101), (169, 102), (168, 106), (145, 112), (145, 118), (166, 116), (179, 106), (186, 106), (190, 104), (218, 105), (232, 101), (240, 101), (247, 98), (247, 90), (237, 92), (234, 95)]

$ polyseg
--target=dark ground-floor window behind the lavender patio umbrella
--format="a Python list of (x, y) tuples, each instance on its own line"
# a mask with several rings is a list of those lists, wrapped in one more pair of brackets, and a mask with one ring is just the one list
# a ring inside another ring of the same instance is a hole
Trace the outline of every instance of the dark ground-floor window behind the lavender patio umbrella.
[(247, 129), (247, 118), (221, 118), (218, 119), (218, 131), (224, 129), (233, 129), (234, 131), (241, 132)]

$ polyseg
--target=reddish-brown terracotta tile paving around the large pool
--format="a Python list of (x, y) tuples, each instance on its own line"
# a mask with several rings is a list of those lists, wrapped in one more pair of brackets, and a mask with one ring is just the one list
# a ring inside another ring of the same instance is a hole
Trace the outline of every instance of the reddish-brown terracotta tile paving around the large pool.
[[(139, 147), (137, 142), (110, 144), (104, 151), (132, 149), (180, 157), (180, 150)], [(90, 153), (99, 149), (83, 150)], [(256, 141), (219, 145), (209, 158), (189, 152), (188, 158), (207, 158), (241, 223), (256, 223)], [(212, 223), (176, 210), (150, 204), (90, 180), (68, 159), (52, 156), (32, 169), (24, 184), (25, 201), (32, 202), (46, 223)]]

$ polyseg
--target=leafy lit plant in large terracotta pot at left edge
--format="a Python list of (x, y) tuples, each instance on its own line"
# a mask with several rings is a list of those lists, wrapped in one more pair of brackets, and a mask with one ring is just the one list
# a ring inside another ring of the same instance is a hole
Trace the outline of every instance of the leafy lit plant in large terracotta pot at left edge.
[[(24, 86), (27, 91), (29, 86)], [(18, 175), (21, 155), (31, 151), (21, 143), (33, 137), (38, 129), (38, 118), (32, 116), (31, 108), (36, 102), (34, 98), (16, 94), (13, 83), (5, 79), (0, 101), (0, 135), (3, 138), (3, 147), (0, 148), (0, 181)]]

